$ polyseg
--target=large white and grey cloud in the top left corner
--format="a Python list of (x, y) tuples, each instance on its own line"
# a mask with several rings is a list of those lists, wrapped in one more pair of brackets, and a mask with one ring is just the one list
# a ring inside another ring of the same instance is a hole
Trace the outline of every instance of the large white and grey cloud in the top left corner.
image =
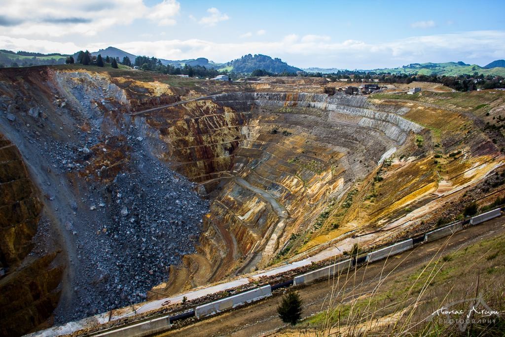
[(15, 0), (2, 2), (0, 35), (25, 37), (93, 36), (111, 27), (147, 18), (158, 25), (173, 25), (180, 10), (176, 0), (164, 0), (154, 8), (142, 0)]

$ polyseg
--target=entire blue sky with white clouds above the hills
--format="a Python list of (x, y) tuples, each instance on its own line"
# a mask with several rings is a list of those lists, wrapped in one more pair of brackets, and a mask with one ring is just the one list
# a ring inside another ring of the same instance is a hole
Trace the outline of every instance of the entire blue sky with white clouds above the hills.
[(308, 68), (505, 59), (505, 1), (0, 0), (0, 49), (168, 60), (246, 54)]

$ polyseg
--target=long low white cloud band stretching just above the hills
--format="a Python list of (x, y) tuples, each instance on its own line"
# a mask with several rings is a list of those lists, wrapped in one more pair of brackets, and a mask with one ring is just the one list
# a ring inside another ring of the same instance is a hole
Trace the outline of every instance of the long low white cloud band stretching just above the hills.
[(169, 60), (206, 57), (227, 62), (246, 54), (279, 57), (297, 67), (373, 69), (397, 67), (414, 62), (464, 61), (487, 64), (505, 55), (505, 31), (469, 31), (453, 34), (415, 36), (386, 42), (360, 40), (328, 41), (287, 35), (276, 41), (217, 43), (199, 39), (130, 41), (79, 45), (48, 40), (0, 36), (0, 46), (8, 50), (43, 53), (96, 51), (109, 45), (135, 55)]

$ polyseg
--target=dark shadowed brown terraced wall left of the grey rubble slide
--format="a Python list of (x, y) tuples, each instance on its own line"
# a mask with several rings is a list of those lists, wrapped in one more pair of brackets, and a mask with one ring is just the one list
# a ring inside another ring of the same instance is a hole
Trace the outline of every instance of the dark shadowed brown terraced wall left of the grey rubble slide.
[[(0, 134), (1, 335), (21, 335), (56, 308), (62, 267), (57, 253), (29, 256), (42, 204), (17, 147)], [(53, 265), (52, 265), (53, 263)]]

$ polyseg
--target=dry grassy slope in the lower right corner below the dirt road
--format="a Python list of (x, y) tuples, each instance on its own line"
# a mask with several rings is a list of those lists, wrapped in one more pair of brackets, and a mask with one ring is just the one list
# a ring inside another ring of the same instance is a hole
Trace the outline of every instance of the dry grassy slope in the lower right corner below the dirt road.
[[(336, 276), (326, 310), (298, 324), (288, 335), (504, 335), (503, 317), (491, 324), (474, 314), (476, 320), (462, 332), (444, 315), (430, 315), (442, 306), (481, 296), (497, 311), (505, 309), (505, 236), (484, 240), (465, 249), (444, 251), (442, 244), (425, 266), (396, 273), (382, 271), (369, 284), (356, 271)], [(410, 254), (415, 254), (415, 251)], [(392, 258), (390, 258), (392, 260)], [(394, 263), (385, 261), (386, 263)], [(401, 262), (394, 269), (400, 268)], [(366, 268), (368, 266), (363, 266)], [(393, 270), (394, 270), (393, 269)], [(408, 275), (406, 277), (406, 274)], [(473, 302), (460, 303), (450, 310), (468, 313)], [(476, 307), (482, 310), (483, 307)], [(451, 318), (457, 318), (452, 315)], [(285, 335), (281, 333), (280, 335)]]

